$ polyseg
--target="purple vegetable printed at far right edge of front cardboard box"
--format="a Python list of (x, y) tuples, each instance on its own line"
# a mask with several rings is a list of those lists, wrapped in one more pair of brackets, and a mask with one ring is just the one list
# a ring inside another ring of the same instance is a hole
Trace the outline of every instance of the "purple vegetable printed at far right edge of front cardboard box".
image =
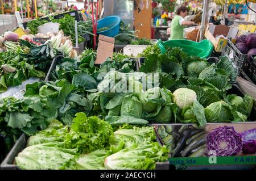
[(256, 153), (256, 128), (242, 132), (241, 136), (243, 141), (243, 153)]

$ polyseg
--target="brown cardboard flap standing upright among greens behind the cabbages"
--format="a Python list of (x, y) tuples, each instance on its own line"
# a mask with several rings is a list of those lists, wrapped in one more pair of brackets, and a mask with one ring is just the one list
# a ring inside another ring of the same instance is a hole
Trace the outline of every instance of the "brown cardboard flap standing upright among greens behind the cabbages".
[(106, 58), (113, 57), (114, 43), (115, 39), (113, 37), (104, 35), (98, 37), (98, 49), (95, 64), (102, 64)]

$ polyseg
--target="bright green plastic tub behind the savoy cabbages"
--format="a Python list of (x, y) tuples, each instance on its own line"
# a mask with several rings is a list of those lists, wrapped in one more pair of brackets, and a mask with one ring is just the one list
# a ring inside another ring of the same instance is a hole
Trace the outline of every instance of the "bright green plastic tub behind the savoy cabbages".
[(192, 56), (198, 56), (201, 58), (208, 58), (213, 50), (213, 45), (209, 40), (202, 40), (200, 42), (191, 41), (191, 40), (168, 40), (162, 41), (158, 40), (158, 47), (162, 53), (166, 52), (167, 47), (180, 47), (184, 52)]

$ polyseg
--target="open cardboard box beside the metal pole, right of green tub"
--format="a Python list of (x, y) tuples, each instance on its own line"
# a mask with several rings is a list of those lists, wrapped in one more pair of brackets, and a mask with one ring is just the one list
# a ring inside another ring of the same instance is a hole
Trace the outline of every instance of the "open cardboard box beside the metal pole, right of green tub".
[[(237, 33), (237, 27), (227, 27), (224, 25), (208, 24), (204, 36), (207, 38), (207, 40), (212, 42), (214, 50), (216, 52), (222, 52), (222, 50), (226, 46), (227, 39), (230, 37), (234, 39), (237, 36)], [(216, 39), (216, 37), (221, 35), (225, 36), (225, 38)]]

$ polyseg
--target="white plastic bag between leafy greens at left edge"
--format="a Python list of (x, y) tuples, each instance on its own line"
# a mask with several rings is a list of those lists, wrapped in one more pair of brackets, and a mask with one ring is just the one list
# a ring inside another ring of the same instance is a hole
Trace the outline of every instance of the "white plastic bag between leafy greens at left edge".
[(7, 91), (0, 94), (0, 99), (7, 98), (9, 96), (13, 96), (16, 99), (22, 99), (23, 94), (26, 91), (26, 85), (34, 82), (39, 82), (39, 81), (40, 81), (40, 78), (31, 77), (26, 81), (22, 82), (22, 85), (8, 87)]

